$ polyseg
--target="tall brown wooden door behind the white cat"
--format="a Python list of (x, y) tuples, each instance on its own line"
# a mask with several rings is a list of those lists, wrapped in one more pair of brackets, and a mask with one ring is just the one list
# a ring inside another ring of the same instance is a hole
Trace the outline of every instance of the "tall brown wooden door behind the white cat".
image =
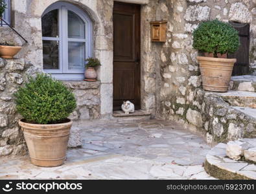
[(114, 3), (113, 7), (113, 109), (124, 100), (141, 108), (139, 5)]

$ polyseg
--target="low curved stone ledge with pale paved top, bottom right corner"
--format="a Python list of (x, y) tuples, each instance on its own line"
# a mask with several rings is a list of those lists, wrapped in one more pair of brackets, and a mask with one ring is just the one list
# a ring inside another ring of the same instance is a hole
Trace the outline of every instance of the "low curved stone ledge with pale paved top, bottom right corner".
[(220, 179), (256, 179), (256, 165), (227, 158), (227, 144), (218, 144), (206, 155), (205, 171)]

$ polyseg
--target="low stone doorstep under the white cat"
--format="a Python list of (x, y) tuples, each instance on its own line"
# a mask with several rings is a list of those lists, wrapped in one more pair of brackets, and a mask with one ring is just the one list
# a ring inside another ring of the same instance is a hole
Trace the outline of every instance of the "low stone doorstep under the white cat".
[(143, 110), (135, 110), (135, 113), (130, 114), (124, 114), (123, 111), (113, 111), (113, 117), (118, 121), (150, 120), (151, 114)]

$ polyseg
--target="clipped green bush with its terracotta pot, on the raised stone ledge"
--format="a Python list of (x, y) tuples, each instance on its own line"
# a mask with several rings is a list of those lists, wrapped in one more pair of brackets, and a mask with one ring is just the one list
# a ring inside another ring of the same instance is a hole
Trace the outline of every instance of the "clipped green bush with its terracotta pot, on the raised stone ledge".
[(193, 32), (193, 47), (205, 53), (205, 56), (197, 58), (204, 89), (226, 92), (237, 61), (227, 59), (227, 54), (236, 52), (239, 48), (237, 30), (218, 20), (203, 22)]

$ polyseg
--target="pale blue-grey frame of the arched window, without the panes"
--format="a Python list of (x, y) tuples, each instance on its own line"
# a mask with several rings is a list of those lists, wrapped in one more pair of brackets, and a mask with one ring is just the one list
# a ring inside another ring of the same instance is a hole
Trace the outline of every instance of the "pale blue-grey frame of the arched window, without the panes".
[[(84, 79), (84, 70), (70, 70), (68, 69), (68, 43), (69, 41), (75, 42), (84, 42), (85, 43), (85, 56), (84, 58), (89, 58), (92, 56), (93, 52), (93, 23), (91, 19), (87, 16), (85, 12), (80, 10), (75, 5), (65, 2), (58, 2), (54, 3), (53, 5), (49, 6), (43, 12), (43, 16), (52, 10), (58, 10), (58, 25), (59, 25), (59, 37), (52, 38), (52, 37), (42, 37), (42, 40), (49, 40), (49, 41), (58, 41), (59, 43), (59, 69), (43, 69), (44, 72), (52, 74), (54, 78), (58, 80), (83, 80)], [(68, 10), (71, 12), (75, 12), (85, 23), (85, 39), (76, 39), (76, 38), (68, 38), (67, 29), (68, 29)], [(86, 61), (84, 61), (86, 64)]]

